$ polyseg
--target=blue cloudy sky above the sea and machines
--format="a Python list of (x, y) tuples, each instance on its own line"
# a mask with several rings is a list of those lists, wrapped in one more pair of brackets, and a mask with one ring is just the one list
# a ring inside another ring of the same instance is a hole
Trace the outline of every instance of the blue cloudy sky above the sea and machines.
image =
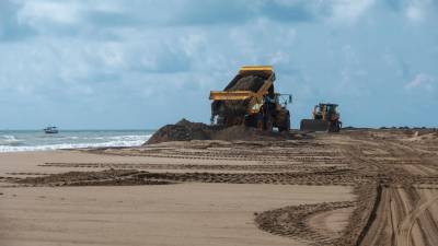
[(438, 126), (436, 0), (1, 0), (0, 129), (209, 122), (209, 91), (272, 65), (292, 127)]

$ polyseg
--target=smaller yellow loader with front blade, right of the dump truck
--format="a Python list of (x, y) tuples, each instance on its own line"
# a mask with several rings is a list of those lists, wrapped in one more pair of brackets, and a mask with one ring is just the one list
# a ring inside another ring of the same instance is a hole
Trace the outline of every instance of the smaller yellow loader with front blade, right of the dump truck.
[(342, 128), (342, 122), (337, 106), (337, 104), (324, 103), (315, 105), (312, 113), (313, 118), (302, 119), (300, 130), (338, 132)]

